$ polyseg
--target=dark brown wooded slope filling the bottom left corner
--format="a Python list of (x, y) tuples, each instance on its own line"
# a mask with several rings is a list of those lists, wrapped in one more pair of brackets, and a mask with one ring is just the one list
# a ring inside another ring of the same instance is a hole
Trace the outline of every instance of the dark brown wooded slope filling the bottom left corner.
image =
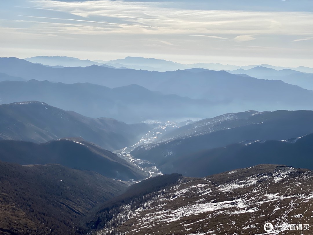
[(56, 164), (21, 166), (2, 161), (0, 181), (3, 235), (86, 234), (83, 221), (90, 211), (128, 186)]

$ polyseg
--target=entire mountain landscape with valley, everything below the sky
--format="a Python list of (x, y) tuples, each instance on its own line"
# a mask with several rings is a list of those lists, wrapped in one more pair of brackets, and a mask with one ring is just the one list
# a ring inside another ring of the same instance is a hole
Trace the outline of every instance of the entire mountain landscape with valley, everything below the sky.
[(283, 208), (310, 223), (311, 70), (0, 58), (0, 233), (251, 234)]

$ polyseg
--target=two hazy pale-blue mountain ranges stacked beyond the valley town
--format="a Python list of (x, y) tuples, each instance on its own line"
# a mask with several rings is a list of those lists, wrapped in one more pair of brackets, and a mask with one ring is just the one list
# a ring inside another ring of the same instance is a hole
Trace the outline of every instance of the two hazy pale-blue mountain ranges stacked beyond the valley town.
[[(233, 75), (225, 71), (193, 73), (177, 70), (161, 73), (116, 70), (97, 65), (51, 68), (17, 58), (1, 58), (0, 61), (0, 72), (10, 76), (72, 84), (5, 82), (1, 86), (2, 103), (38, 100), (93, 118), (102, 116), (134, 123), (178, 116), (205, 118), (250, 109), (313, 109), (313, 91), (282, 81)], [(90, 82), (107, 87), (73, 84), (75, 82)], [(108, 89), (119, 86), (127, 87)], [(20, 92), (19, 89), (24, 87), (28, 89)], [(170, 94), (177, 96), (168, 96)]]

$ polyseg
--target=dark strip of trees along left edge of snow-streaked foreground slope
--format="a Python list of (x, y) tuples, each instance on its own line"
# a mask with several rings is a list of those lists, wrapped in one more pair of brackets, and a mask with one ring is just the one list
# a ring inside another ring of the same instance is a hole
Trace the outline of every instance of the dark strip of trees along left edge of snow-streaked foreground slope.
[(182, 175), (174, 173), (156, 176), (131, 185), (122, 195), (112, 198), (101, 206), (96, 216), (87, 222), (87, 226), (93, 231), (107, 228), (110, 230), (108, 234), (115, 235), (116, 227), (128, 220), (136, 209), (149, 206), (149, 201), (165, 194), (167, 189), (177, 185), (181, 179)]

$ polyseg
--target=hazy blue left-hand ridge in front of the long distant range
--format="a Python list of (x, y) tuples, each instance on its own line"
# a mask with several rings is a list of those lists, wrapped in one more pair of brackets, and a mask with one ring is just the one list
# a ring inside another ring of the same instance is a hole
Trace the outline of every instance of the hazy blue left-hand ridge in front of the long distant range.
[[(211, 104), (205, 100), (163, 95), (138, 85), (111, 89), (90, 83), (36, 80), (0, 82), (0, 100), (1, 103), (38, 100), (85, 116), (115, 118), (126, 123), (206, 117), (210, 112), (206, 107)], [(136, 137), (136, 132), (133, 136)]]

